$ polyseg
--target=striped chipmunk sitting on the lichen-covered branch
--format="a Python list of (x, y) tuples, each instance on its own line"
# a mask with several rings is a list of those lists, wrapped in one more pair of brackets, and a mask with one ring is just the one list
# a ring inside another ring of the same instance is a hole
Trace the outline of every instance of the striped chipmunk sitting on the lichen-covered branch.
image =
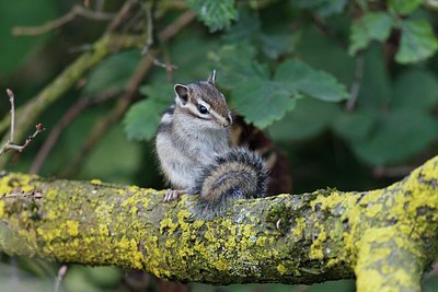
[(220, 215), (229, 199), (264, 197), (265, 161), (257, 153), (231, 145), (231, 110), (216, 86), (216, 71), (207, 81), (175, 84), (175, 103), (163, 114), (155, 137), (161, 171), (174, 189), (164, 201), (182, 194), (200, 195), (194, 213)]

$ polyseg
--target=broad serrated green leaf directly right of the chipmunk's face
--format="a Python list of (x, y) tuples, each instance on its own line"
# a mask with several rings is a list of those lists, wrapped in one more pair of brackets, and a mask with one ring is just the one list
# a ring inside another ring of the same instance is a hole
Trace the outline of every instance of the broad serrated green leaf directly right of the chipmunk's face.
[[(233, 105), (247, 122), (258, 128), (279, 120), (295, 107), (297, 92), (290, 91), (281, 83), (251, 78), (239, 83), (232, 92)], [(291, 98), (291, 96), (296, 98)]]

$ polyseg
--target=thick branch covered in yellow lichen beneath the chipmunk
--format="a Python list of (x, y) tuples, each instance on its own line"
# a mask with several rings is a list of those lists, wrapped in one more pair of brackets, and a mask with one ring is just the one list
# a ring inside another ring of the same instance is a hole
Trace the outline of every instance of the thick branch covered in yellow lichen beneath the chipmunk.
[[(20, 195), (24, 191), (23, 195)], [(196, 196), (163, 203), (135, 186), (7, 174), (0, 248), (208, 283), (314, 283), (357, 277), (358, 291), (419, 291), (437, 256), (438, 156), (379, 190), (335, 189), (235, 201), (212, 221)]]

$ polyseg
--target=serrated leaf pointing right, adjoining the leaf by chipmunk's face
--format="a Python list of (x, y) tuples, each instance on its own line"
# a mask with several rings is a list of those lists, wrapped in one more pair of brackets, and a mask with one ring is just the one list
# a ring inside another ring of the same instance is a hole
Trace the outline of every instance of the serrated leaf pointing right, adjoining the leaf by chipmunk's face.
[(281, 63), (274, 80), (280, 81), (290, 91), (296, 90), (320, 101), (339, 102), (348, 97), (345, 86), (333, 75), (298, 60)]

